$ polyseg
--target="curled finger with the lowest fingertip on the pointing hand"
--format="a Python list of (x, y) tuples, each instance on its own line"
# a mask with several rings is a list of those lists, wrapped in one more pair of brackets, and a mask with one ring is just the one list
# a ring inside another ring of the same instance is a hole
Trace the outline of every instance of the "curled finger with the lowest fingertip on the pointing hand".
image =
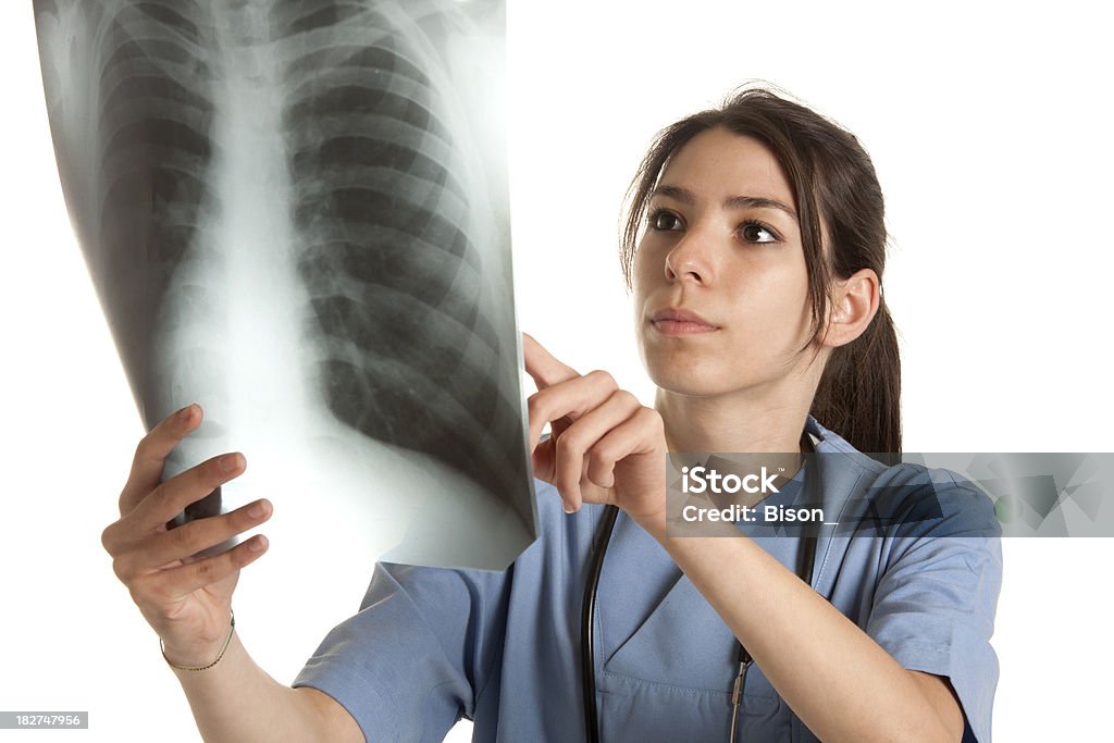
[[(555, 477), (553, 485), (565, 500), (565, 511), (579, 510), (584, 501), (582, 481), (585, 477), (602, 488), (609, 488), (613, 481), (594, 479), (588, 470), (588, 451), (614, 428), (627, 421), (642, 404), (626, 390), (615, 390), (603, 404), (585, 413), (568, 427), (556, 443)], [(612, 462), (614, 467), (614, 462)], [(598, 472), (596, 472), (598, 477)], [(605, 475), (610, 477), (610, 470)]]

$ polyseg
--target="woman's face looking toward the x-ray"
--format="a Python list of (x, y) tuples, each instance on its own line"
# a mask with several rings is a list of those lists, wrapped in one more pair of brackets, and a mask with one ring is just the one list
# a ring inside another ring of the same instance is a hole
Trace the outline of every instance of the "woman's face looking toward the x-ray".
[(681, 394), (775, 394), (811, 353), (797, 205), (756, 139), (715, 128), (677, 150), (655, 189), (634, 263), (646, 369)]

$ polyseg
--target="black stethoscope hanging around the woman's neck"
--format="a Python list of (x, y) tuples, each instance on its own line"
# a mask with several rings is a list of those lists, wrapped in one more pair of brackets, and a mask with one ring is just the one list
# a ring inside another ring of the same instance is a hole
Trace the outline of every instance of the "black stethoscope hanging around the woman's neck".
[[(802, 437), (802, 443), (804, 438)], [(808, 442), (811, 444), (811, 441)], [(808, 446), (805, 444), (805, 446)], [(809, 446), (809, 449), (812, 447)], [(809, 449), (802, 450), (807, 451)], [(805, 487), (811, 489), (818, 473), (805, 479)], [(596, 529), (593, 540), (592, 563), (588, 566), (588, 580), (584, 586), (584, 602), (580, 604), (580, 686), (584, 692), (584, 726), (587, 733), (588, 743), (599, 743), (599, 722), (596, 713), (596, 656), (595, 642), (595, 614), (596, 614), (596, 592), (599, 588), (599, 575), (604, 569), (604, 556), (607, 554), (607, 546), (610, 544), (612, 531), (615, 529), (615, 519), (619, 509), (616, 506), (605, 506), (604, 516)], [(802, 537), (802, 548), (797, 565), (798, 577), (812, 586), (812, 564), (817, 556), (818, 526), (807, 522), (805, 534)], [(746, 672), (754, 663), (754, 658), (746, 652), (742, 643), (736, 643), (739, 647), (739, 674), (731, 691), (731, 732), (727, 743), (734, 743), (739, 733), (740, 711), (743, 704), (743, 687), (746, 684)]]

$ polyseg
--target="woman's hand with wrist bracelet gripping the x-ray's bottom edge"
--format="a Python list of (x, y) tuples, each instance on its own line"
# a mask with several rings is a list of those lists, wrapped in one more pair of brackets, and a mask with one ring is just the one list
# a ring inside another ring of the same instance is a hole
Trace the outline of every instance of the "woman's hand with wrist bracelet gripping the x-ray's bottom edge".
[(270, 502), (256, 500), (167, 529), (186, 506), (238, 477), (246, 466), (243, 454), (222, 454), (160, 482), (167, 456), (201, 422), (201, 407), (189, 405), (144, 437), (120, 492), (120, 518), (101, 535), (116, 576), (162, 637), (166, 657), (180, 666), (204, 666), (217, 657), (229, 632), (240, 569), (266, 551), (267, 540), (256, 535), (218, 555), (197, 553), (258, 526), (272, 512)]

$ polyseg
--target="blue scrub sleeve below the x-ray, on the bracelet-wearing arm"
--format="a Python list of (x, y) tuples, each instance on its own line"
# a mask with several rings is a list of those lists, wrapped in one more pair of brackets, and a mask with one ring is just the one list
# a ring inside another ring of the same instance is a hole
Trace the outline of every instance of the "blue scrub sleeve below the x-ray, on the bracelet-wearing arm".
[(293, 685), (332, 696), (372, 743), (440, 743), (498, 672), (512, 570), (377, 565), (360, 612)]

